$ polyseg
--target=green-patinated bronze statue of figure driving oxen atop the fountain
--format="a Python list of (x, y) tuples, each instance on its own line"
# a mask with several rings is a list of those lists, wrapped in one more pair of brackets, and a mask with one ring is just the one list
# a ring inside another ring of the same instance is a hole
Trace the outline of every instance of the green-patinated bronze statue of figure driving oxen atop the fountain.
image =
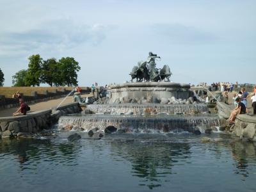
[(159, 58), (157, 54), (153, 54), (152, 52), (148, 53), (147, 61), (138, 62), (138, 66), (134, 66), (132, 68), (132, 72), (130, 73), (132, 79), (136, 78), (136, 81), (170, 81), (170, 76), (172, 73), (170, 72), (170, 67), (168, 65), (164, 65), (163, 68), (156, 68), (155, 59)]

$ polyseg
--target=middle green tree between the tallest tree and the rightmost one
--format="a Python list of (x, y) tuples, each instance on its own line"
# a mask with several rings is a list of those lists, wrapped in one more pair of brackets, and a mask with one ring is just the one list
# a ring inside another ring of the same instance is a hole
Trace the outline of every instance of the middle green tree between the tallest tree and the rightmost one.
[(55, 58), (48, 59), (42, 63), (42, 83), (47, 83), (50, 86), (57, 85), (60, 79), (59, 64)]

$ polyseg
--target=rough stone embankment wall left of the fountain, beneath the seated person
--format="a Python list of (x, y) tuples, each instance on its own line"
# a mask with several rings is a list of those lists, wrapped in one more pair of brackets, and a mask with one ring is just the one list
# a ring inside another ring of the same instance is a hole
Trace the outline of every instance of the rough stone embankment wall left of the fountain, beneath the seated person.
[(0, 138), (28, 136), (43, 129), (50, 129), (58, 122), (61, 115), (79, 112), (81, 112), (81, 107), (78, 102), (74, 102), (60, 106), (54, 111), (47, 109), (22, 116), (1, 117)]

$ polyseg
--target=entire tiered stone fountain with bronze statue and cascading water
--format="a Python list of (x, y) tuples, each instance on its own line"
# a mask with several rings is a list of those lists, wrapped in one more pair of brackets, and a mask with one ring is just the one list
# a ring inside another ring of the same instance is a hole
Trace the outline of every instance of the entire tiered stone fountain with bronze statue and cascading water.
[(171, 83), (170, 68), (164, 65), (157, 69), (155, 58), (159, 57), (150, 52), (147, 61), (132, 69), (130, 75), (137, 82), (112, 84), (104, 104), (88, 105), (87, 113), (61, 116), (59, 128), (86, 132), (109, 132), (109, 127), (117, 132), (215, 131), (218, 116), (209, 114), (207, 104), (195, 97), (189, 84)]

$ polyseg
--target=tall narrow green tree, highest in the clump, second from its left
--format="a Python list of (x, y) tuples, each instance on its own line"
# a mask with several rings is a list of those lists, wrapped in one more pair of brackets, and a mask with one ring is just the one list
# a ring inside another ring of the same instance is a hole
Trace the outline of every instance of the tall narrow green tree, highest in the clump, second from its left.
[(28, 74), (26, 76), (26, 83), (30, 85), (40, 86), (41, 83), (41, 75), (42, 75), (42, 58), (40, 58), (39, 54), (32, 55), (29, 58), (28, 64)]

